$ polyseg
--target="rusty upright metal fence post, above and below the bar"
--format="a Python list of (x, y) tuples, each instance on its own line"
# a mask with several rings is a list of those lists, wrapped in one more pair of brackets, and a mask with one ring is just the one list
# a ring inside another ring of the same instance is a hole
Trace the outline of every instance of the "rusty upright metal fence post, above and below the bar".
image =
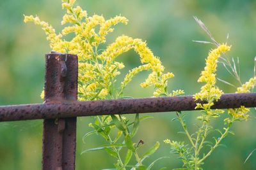
[[(45, 103), (77, 101), (77, 56), (45, 55)], [(76, 117), (44, 119), (43, 170), (75, 169)]]

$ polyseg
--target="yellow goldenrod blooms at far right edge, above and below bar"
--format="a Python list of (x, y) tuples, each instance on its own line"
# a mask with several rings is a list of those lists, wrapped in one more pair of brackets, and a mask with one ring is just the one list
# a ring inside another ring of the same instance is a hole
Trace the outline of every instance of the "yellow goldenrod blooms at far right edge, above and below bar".
[[(237, 88), (237, 93), (248, 93), (250, 92), (256, 85), (256, 76), (253, 78), (250, 78), (249, 81), (244, 83), (241, 87)], [(228, 114), (230, 114), (234, 119), (241, 119), (241, 120), (247, 120), (249, 115), (247, 113), (250, 111), (249, 108), (245, 108), (244, 106), (241, 106), (240, 108), (236, 109), (228, 109)]]

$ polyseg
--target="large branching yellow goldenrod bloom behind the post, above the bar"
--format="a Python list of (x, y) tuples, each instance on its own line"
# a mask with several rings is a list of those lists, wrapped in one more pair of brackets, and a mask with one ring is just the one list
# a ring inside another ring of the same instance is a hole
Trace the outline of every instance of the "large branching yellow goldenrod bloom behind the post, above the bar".
[[(127, 84), (132, 77), (143, 70), (152, 71), (141, 87), (154, 86), (156, 91), (154, 96), (175, 96), (182, 94), (182, 90), (177, 90), (173, 94), (167, 92), (167, 80), (172, 78), (172, 73), (164, 74), (164, 67), (158, 57), (154, 56), (148, 48), (147, 43), (141, 39), (133, 39), (129, 36), (119, 36), (115, 42), (100, 49), (100, 44), (106, 43), (106, 36), (113, 32), (113, 26), (122, 23), (127, 24), (128, 20), (122, 16), (116, 16), (105, 20), (101, 15), (88, 17), (87, 11), (80, 6), (75, 6), (76, 0), (62, 0), (62, 8), (66, 10), (61, 24), (68, 24), (60, 34), (47, 22), (41, 21), (38, 17), (25, 16), (24, 22), (34, 22), (41, 25), (47, 34), (52, 50), (61, 53), (74, 53), (79, 59), (79, 100), (93, 100), (116, 98), (122, 95)], [(65, 36), (72, 34), (72, 39), (67, 41)], [(114, 84), (116, 76), (120, 74), (120, 69), (124, 64), (116, 62), (118, 55), (134, 49), (142, 65), (138, 66), (125, 76), (120, 88), (116, 89)], [(118, 91), (119, 90), (119, 91)]]

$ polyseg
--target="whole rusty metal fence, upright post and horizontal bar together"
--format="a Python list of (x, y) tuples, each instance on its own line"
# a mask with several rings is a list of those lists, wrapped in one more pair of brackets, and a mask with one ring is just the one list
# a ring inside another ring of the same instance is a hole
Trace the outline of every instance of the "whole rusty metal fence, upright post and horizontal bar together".
[[(42, 169), (75, 169), (76, 117), (195, 110), (192, 96), (77, 101), (77, 56), (45, 55), (45, 102), (0, 106), (0, 122), (44, 119)], [(212, 108), (256, 107), (256, 93), (223, 94)]]

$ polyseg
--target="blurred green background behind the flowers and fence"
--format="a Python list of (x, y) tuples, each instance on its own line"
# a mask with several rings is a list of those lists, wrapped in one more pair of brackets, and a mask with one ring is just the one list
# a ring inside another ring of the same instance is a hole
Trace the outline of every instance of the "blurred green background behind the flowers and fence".
[[(192, 40), (209, 40), (198, 27), (193, 16), (200, 18), (211, 30), (217, 41), (232, 45), (229, 56), (239, 57), (241, 78), (244, 81), (253, 76), (256, 55), (256, 2), (243, 1), (190, 1), (190, 0), (79, 0), (90, 15), (97, 13), (106, 18), (123, 15), (128, 25), (118, 25), (108, 38), (110, 41), (121, 34), (147, 40), (148, 46), (161, 58), (166, 71), (172, 71), (170, 89), (184, 89), (186, 94), (195, 94), (202, 84), (196, 80), (204, 69), (204, 61), (212, 45), (194, 43)], [(40, 27), (23, 23), (23, 14), (38, 15), (48, 21), (56, 30), (62, 27), (60, 21), (64, 11), (61, 1), (52, 0), (9, 0), (0, 1), (0, 105), (42, 103), (40, 92), (44, 87), (44, 53), (48, 53), (48, 42)], [(128, 52), (120, 59), (125, 63), (124, 73), (138, 66), (135, 52)], [(121, 75), (121, 77), (124, 74)], [(125, 94), (133, 97), (152, 96), (152, 89), (141, 89), (139, 83), (145, 73), (137, 76)], [(230, 74), (220, 67), (218, 77), (236, 84)], [(225, 92), (236, 89), (218, 82)], [(188, 112), (188, 124), (195, 129), (198, 112)], [(153, 119), (141, 123), (137, 139), (145, 141), (145, 148), (156, 141), (160, 149), (150, 157), (150, 162), (160, 156), (170, 159), (159, 161), (153, 169), (180, 167), (176, 155), (163, 139), (183, 140), (179, 122), (171, 122), (175, 113), (148, 114)], [(80, 154), (86, 148), (99, 146), (104, 141), (93, 136), (83, 143), (83, 135), (90, 131), (88, 123), (92, 118), (78, 118), (77, 123), (77, 169), (104, 169), (113, 167), (113, 159), (105, 152)], [(204, 169), (256, 169), (256, 153), (244, 164), (247, 155), (256, 148), (255, 111), (247, 122), (237, 122), (232, 130), (235, 136), (228, 136), (223, 143), (227, 147), (216, 149), (205, 161)], [(222, 120), (213, 122), (221, 127)], [(42, 120), (26, 122), (3, 122), (0, 124), (0, 169), (40, 169), (42, 151)], [(147, 163), (146, 162), (146, 163)]]

